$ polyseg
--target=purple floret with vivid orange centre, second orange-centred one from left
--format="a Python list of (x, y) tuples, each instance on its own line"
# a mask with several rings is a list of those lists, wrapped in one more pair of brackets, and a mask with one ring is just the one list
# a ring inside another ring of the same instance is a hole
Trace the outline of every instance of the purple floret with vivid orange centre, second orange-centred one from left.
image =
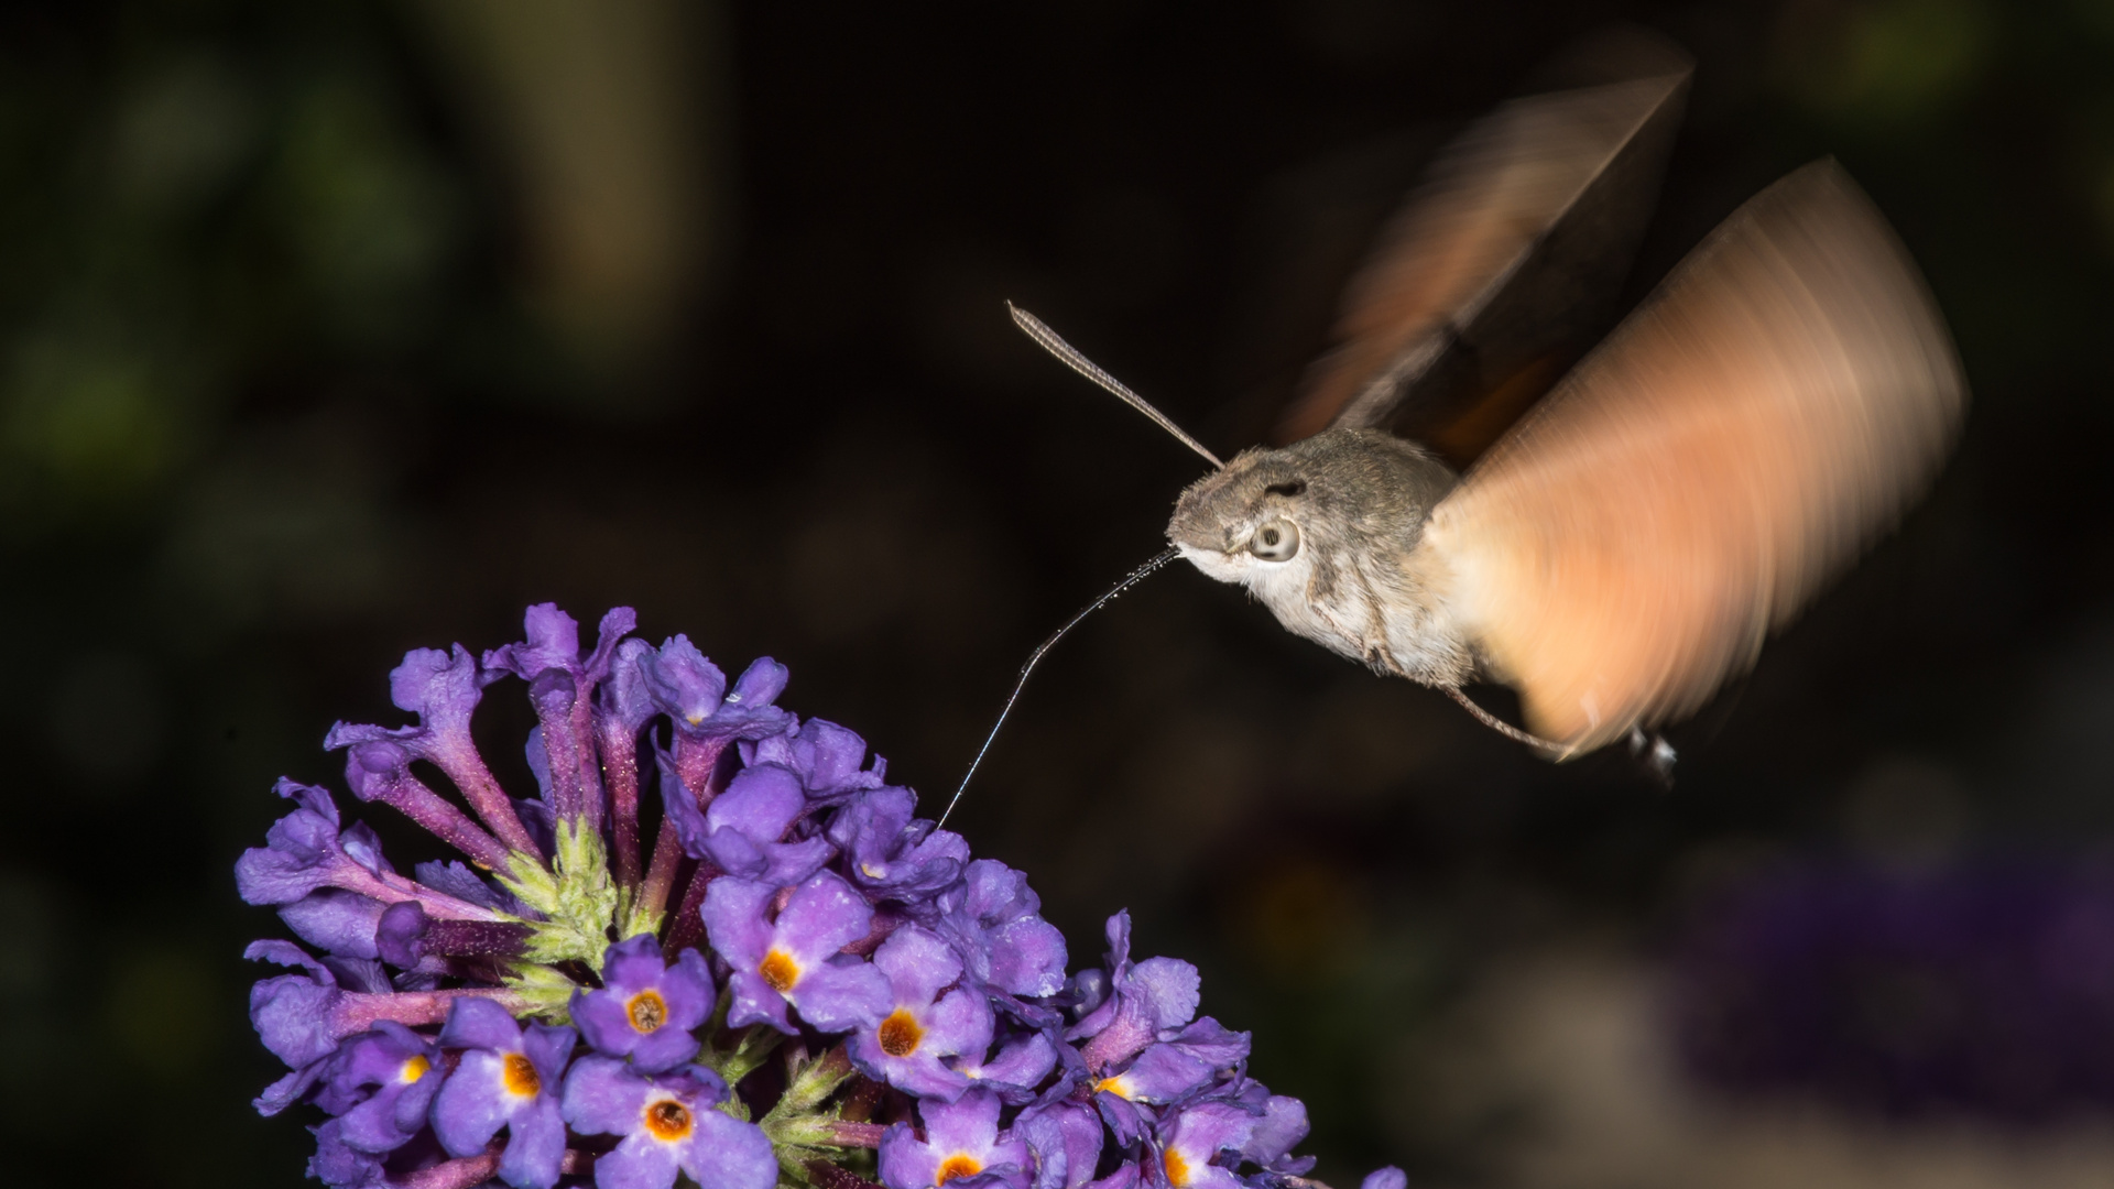
[(522, 1028), (503, 1007), (461, 999), (440, 1030), (440, 1047), (465, 1049), (433, 1100), (433, 1134), (448, 1155), (478, 1155), (507, 1128), (499, 1178), (514, 1189), (550, 1189), (564, 1155), (558, 1087), (573, 1056), (573, 1030)]

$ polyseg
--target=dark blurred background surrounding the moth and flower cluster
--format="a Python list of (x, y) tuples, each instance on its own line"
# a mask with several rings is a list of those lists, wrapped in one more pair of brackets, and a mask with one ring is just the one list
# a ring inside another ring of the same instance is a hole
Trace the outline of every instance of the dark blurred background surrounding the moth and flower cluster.
[(228, 865), (408, 647), (630, 603), (932, 806), (1199, 474), (1002, 298), (1249, 444), (1431, 148), (1611, 21), (1698, 59), (1632, 300), (1837, 154), (1974, 385), (1936, 491), (1672, 793), (1184, 567), (958, 825), (1074, 963), (1125, 906), (1197, 961), (1336, 1185), (2106, 1185), (2110, 0), (8, 6), (6, 1183), (300, 1181)]

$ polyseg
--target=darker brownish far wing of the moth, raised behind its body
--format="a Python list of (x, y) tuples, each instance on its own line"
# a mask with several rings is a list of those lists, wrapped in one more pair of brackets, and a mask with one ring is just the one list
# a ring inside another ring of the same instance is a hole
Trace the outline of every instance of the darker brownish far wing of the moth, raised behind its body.
[[(1279, 442), (1332, 425), (1429, 442), (1600, 328), (1651, 216), (1689, 78), (1687, 59), (1662, 42), (1626, 66), (1643, 76), (1514, 99), (1446, 148), (1351, 281), (1338, 347), (1309, 372)], [(1545, 383), (1526, 385), (1497, 429)]]

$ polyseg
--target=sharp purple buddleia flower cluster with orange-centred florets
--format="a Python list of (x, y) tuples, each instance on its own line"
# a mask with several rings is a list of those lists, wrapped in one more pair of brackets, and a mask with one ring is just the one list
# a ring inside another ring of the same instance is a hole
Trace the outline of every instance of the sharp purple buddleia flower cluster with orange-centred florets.
[[(290, 1073), (260, 1098), (323, 1113), (326, 1185), (516, 1189), (1285, 1189), (1304, 1106), (1247, 1077), (1247, 1035), (1199, 1018), (1197, 967), (1065, 973), (1025, 876), (913, 817), (850, 730), (731, 685), (687, 639), (554, 605), (526, 641), (421, 650), (391, 675), (416, 726), (332, 728), (347, 785), (469, 863), (410, 876), (323, 789), (237, 863), (309, 950), (249, 1016)], [(469, 738), (518, 677), (535, 798)], [(435, 789), (414, 764), (446, 776)], [(660, 825), (645, 844), (641, 772)], [(452, 795), (450, 795), (452, 793)], [(313, 952), (311, 952), (313, 950)], [(1380, 1170), (1368, 1189), (1399, 1189)]]

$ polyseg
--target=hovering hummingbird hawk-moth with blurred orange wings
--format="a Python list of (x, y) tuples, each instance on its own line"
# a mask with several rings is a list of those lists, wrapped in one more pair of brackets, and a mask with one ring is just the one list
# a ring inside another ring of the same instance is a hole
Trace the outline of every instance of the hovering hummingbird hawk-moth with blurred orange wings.
[[(1277, 444), (1230, 461), (1015, 311), (1216, 465), (1158, 561), (1556, 760), (1640, 743), (1750, 666), (1930, 482), (1966, 383), (1909, 254), (1824, 159), (1533, 400), (1619, 288), (1687, 78), (1666, 47), (1471, 125), (1351, 281)], [(1526, 730), (1471, 681), (1512, 685)]]

